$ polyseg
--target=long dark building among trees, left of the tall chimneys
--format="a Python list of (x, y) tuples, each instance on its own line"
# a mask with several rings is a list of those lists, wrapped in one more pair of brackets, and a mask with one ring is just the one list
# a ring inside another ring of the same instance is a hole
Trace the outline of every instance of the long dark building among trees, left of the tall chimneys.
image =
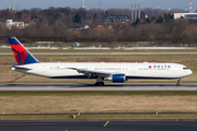
[(112, 15), (112, 14), (105, 14), (101, 17), (102, 22), (126, 22), (130, 21), (130, 17), (127, 15)]

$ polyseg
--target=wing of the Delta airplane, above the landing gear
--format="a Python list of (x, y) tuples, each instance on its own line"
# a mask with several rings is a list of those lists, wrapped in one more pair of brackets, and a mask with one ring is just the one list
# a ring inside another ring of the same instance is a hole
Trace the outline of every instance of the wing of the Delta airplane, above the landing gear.
[(69, 69), (77, 70), (79, 73), (89, 74), (91, 76), (106, 78), (112, 74), (109, 72), (101, 72), (101, 71), (93, 71), (93, 70), (85, 70), (85, 69), (78, 69), (78, 68), (69, 68)]

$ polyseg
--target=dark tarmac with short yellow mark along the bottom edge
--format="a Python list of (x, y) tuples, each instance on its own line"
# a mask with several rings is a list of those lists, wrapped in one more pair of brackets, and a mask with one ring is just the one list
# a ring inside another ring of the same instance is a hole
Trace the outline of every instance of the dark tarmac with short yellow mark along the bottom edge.
[(19, 120), (1, 131), (196, 131), (197, 120)]

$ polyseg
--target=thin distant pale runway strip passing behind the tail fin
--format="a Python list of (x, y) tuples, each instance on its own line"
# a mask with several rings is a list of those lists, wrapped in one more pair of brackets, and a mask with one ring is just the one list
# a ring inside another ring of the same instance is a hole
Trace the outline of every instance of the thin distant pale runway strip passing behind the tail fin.
[[(178, 52), (32, 52), (33, 55), (196, 55), (195, 51)], [(0, 52), (0, 55), (13, 55), (12, 52)]]

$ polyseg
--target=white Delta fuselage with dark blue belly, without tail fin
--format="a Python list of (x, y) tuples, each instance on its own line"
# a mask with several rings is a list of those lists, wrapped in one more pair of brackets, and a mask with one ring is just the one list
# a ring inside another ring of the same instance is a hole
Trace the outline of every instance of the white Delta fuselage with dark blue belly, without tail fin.
[[(89, 79), (90, 74), (79, 73), (70, 68), (89, 71), (125, 74), (127, 79), (181, 79), (193, 72), (178, 63), (125, 63), (125, 62), (40, 62), (15, 66), (12, 70), (50, 79)], [(28, 69), (28, 70), (23, 70)]]

